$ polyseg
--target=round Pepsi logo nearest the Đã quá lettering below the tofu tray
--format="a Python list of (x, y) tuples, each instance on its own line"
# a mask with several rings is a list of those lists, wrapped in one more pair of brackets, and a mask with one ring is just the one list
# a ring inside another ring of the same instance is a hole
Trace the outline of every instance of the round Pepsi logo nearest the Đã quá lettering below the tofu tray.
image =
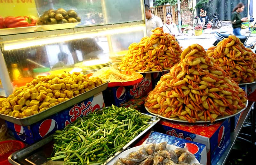
[(47, 134), (54, 133), (55, 131), (57, 131), (57, 129), (58, 129), (58, 124), (55, 120), (46, 119), (40, 124), (38, 128), (38, 132), (39, 132), (39, 135), (43, 138)]

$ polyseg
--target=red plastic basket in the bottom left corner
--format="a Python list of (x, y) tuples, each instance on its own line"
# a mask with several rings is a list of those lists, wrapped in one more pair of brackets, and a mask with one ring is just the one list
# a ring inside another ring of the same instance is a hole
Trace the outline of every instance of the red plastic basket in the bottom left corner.
[(8, 157), (15, 151), (24, 147), (24, 143), (18, 140), (6, 140), (0, 142), (0, 165), (10, 164), (8, 162)]

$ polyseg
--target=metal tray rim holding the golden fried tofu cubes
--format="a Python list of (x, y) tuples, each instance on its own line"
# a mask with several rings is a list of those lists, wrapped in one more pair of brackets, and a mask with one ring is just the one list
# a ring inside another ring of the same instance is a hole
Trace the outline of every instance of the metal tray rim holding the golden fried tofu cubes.
[(18, 124), (18, 125), (22, 125), (22, 126), (28, 126), (28, 125), (31, 125), (31, 124), (34, 124), (46, 117), (49, 117), (51, 115), (54, 115), (78, 102), (81, 102), (81, 101), (84, 101), (85, 99), (88, 99), (90, 97), (92, 97), (93, 95), (95, 94), (98, 94), (104, 90), (107, 89), (108, 87), (108, 82), (107, 81), (106, 83), (104, 84), (101, 84), (100, 86), (97, 86), (87, 92), (84, 92), (82, 94), (79, 94), (78, 96), (76, 97), (73, 97), (71, 99), (68, 99), (66, 101), (63, 101), (51, 108), (48, 108), (38, 114), (35, 114), (35, 115), (32, 115), (32, 116), (28, 116), (28, 117), (25, 117), (25, 118), (22, 118), (22, 119), (19, 119), (19, 118), (16, 118), (16, 117), (12, 117), (12, 116), (8, 116), (8, 115), (4, 115), (4, 114), (0, 114), (0, 118), (1, 119), (4, 119), (8, 122), (11, 122), (11, 123), (15, 123), (15, 124)]

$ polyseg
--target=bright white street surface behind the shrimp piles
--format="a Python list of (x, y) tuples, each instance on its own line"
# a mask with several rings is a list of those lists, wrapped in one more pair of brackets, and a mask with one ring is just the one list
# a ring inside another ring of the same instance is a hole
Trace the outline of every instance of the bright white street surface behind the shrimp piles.
[[(233, 28), (230, 26), (227, 26), (226, 32), (223, 34), (233, 34), (232, 31), (233, 31)], [(205, 30), (204, 30), (204, 32), (205, 32)], [(217, 29), (217, 28), (212, 29), (212, 33), (210, 33), (210, 34), (205, 34), (204, 32), (203, 32), (203, 34), (197, 35), (197, 36), (194, 35), (195, 34), (194, 32), (193, 32), (194, 34), (191, 36), (188, 36), (188, 34), (180, 33), (176, 38), (180, 42), (180, 46), (182, 46), (183, 49), (186, 49), (188, 46), (195, 44), (195, 43), (203, 46), (204, 49), (208, 49), (211, 46), (213, 46), (214, 41), (216, 41), (215, 32), (220, 33), (220, 29)], [(247, 28), (245, 36), (248, 37), (250, 32), (251, 31), (249, 31), (249, 28)], [(254, 40), (256, 40), (256, 34), (251, 34), (246, 43), (249, 44), (249, 43), (253, 42)]]

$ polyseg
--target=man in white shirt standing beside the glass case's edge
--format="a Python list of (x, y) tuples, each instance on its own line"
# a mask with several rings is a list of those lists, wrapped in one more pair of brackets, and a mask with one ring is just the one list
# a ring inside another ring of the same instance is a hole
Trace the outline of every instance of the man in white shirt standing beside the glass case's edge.
[(147, 36), (153, 34), (151, 30), (155, 29), (156, 27), (163, 28), (162, 19), (153, 15), (151, 13), (150, 7), (145, 4), (145, 15), (146, 15), (146, 29), (147, 29)]

